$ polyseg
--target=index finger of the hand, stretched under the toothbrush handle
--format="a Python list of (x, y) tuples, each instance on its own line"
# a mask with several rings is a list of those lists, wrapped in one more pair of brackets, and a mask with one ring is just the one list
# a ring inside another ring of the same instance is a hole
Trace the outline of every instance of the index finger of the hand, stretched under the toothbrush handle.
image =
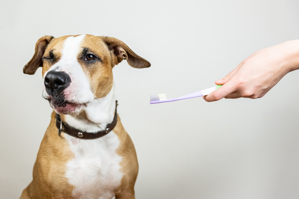
[(217, 101), (226, 97), (230, 93), (236, 91), (236, 86), (233, 83), (227, 82), (222, 87), (218, 88), (216, 91), (211, 92), (209, 95), (203, 96), (203, 99), (207, 102)]

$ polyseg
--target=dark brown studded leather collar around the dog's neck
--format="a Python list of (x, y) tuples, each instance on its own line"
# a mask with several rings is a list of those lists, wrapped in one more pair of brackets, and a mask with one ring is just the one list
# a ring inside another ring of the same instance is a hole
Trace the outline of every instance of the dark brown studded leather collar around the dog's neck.
[(116, 105), (115, 105), (115, 114), (113, 121), (108, 124), (103, 131), (98, 131), (95, 133), (90, 133), (90, 132), (84, 132), (80, 131), (78, 129), (72, 128), (68, 126), (68, 124), (64, 124), (63, 121), (61, 120), (59, 114), (56, 113), (56, 127), (58, 128), (58, 135), (60, 136), (61, 131), (67, 133), (68, 135), (77, 137), (77, 138), (82, 138), (82, 139), (94, 139), (98, 137), (102, 137), (104, 135), (107, 135), (110, 131), (113, 130), (113, 128), (117, 124), (117, 100), (116, 100)]

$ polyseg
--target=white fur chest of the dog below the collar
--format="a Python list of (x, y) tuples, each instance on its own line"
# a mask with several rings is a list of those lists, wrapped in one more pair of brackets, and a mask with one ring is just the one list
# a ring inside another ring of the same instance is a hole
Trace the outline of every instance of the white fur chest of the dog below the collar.
[(119, 139), (112, 131), (91, 140), (65, 135), (74, 158), (67, 162), (66, 177), (74, 185), (74, 198), (111, 198), (121, 184)]

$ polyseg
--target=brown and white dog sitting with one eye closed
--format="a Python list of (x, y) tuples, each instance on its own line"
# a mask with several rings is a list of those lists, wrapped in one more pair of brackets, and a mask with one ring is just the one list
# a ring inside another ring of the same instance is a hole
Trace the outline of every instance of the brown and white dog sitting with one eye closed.
[[(63, 124), (94, 133), (105, 130), (116, 113), (112, 68), (127, 59), (134, 68), (150, 67), (125, 43), (112, 37), (44, 36), (23, 71), (42, 67), (43, 98), (54, 109), (36, 162), (33, 181), (21, 198), (135, 198), (136, 151), (119, 117), (115, 128), (96, 139), (58, 135)], [(56, 113), (55, 113), (56, 112)]]

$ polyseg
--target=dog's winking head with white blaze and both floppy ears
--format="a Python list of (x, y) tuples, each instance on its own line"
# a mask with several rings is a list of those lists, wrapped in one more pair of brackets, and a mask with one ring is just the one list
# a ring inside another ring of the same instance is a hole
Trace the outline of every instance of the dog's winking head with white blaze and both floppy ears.
[(123, 59), (135, 68), (150, 66), (148, 61), (115, 38), (44, 36), (37, 41), (35, 54), (23, 71), (32, 75), (42, 66), (43, 98), (49, 100), (59, 114), (77, 114), (89, 102), (110, 92), (112, 68)]

